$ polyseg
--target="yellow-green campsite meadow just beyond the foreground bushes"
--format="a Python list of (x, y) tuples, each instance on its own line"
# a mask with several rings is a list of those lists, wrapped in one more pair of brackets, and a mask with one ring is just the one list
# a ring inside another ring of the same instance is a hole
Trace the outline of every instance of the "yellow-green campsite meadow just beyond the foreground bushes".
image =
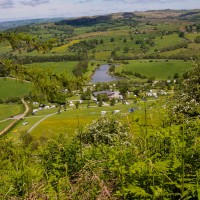
[[(141, 102), (140, 104), (135, 104), (131, 101), (129, 103), (129, 105), (118, 103), (115, 106), (92, 106), (89, 108), (80, 106), (78, 110), (75, 109), (75, 107), (68, 108), (67, 111), (62, 111), (60, 114), (54, 114), (44, 119), (30, 132), (30, 134), (35, 139), (39, 139), (44, 136), (48, 138), (53, 138), (59, 134), (68, 135), (70, 138), (75, 134), (78, 129), (85, 129), (87, 125), (92, 123), (92, 121), (100, 118), (101, 111), (106, 111), (107, 115), (111, 115), (114, 110), (120, 110), (120, 113), (117, 114), (119, 115), (119, 119), (121, 118), (121, 121), (123, 123), (130, 123), (130, 125), (133, 127), (134, 132), (136, 133), (140, 130), (139, 126), (135, 122), (135, 119), (137, 117), (140, 117), (141, 123), (144, 122), (144, 103)], [(154, 125), (158, 124), (158, 112), (160, 110), (155, 109), (158, 107), (158, 105), (156, 105), (156, 101), (149, 101), (146, 103), (146, 105), (151, 105), (151, 109), (149, 109), (148, 111), (148, 123), (154, 123)], [(161, 104), (159, 103), (159, 105)], [(136, 111), (134, 113), (128, 113), (128, 110), (131, 107), (136, 108)], [(55, 113), (55, 109), (48, 112), (48, 114), (50, 113)], [(22, 132), (28, 131), (34, 124), (36, 124), (44, 117), (45, 115), (39, 114), (35, 116), (29, 116), (21, 120), (20, 123), (18, 123), (17, 126), (9, 132), (9, 135), (17, 139)], [(25, 121), (28, 122), (28, 124), (23, 126), (22, 123)]]

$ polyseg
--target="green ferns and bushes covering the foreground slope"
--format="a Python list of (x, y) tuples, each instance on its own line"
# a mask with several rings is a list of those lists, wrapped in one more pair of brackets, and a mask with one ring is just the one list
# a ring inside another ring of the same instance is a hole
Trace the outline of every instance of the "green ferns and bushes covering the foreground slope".
[(2, 139), (1, 197), (197, 198), (199, 119), (177, 126), (168, 124), (163, 113), (163, 123), (152, 126), (148, 112), (151, 107), (144, 102), (145, 120), (101, 117), (84, 130), (79, 127), (72, 140), (60, 135), (35, 143), (27, 134), (19, 143)]

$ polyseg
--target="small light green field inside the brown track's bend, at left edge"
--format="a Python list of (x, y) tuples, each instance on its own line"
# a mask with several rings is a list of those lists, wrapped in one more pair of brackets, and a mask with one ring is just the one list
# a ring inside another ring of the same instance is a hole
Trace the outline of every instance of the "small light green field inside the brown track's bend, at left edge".
[(23, 112), (21, 104), (0, 104), (0, 120), (18, 115)]

